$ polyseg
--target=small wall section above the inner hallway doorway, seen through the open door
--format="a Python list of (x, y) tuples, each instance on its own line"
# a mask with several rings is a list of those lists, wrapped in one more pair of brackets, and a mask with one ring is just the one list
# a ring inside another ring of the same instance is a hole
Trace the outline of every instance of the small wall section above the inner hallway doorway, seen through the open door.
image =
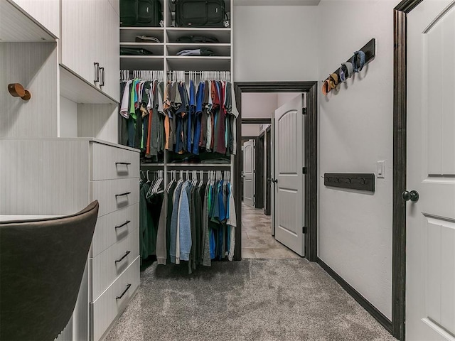
[(242, 94), (242, 119), (269, 118), (277, 109), (276, 93), (251, 92)]

